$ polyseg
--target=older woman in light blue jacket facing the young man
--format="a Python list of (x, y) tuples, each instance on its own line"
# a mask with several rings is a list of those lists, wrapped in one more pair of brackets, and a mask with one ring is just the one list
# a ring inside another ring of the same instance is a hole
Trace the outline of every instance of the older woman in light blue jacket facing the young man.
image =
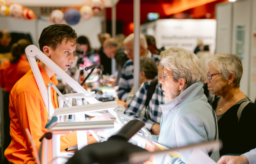
[[(164, 66), (160, 83), (165, 100), (169, 102), (160, 105), (163, 112), (160, 134), (153, 136), (151, 141), (174, 148), (218, 140), (215, 113), (203, 94), (203, 81), (206, 79), (203, 62), (191, 51), (182, 49), (163, 56), (160, 64)], [(159, 150), (151, 141), (147, 141), (146, 150)], [(214, 147), (213, 152), (201, 150), (214, 161), (219, 160), (219, 147)], [(155, 164), (181, 164), (188, 162), (191, 153), (192, 150), (180, 151), (180, 157), (155, 155), (151, 160)]]

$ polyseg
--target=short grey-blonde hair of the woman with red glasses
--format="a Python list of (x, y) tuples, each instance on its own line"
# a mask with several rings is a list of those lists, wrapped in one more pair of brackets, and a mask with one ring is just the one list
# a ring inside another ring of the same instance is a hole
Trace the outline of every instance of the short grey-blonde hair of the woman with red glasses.
[(235, 74), (234, 87), (240, 87), (243, 75), (243, 65), (240, 57), (236, 54), (218, 54), (207, 60), (206, 68), (212, 67), (215, 71), (222, 73), (224, 79), (228, 80), (230, 73)]

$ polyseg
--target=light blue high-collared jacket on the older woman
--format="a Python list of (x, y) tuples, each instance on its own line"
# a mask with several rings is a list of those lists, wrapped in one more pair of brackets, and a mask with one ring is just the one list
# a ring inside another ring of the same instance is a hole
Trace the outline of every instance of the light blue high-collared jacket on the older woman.
[[(203, 82), (196, 82), (174, 100), (160, 105), (163, 112), (160, 134), (159, 136), (153, 136), (153, 141), (156, 140), (169, 147), (180, 147), (214, 140), (216, 133), (214, 117), (211, 106), (203, 94), (202, 87)], [(219, 139), (218, 126), (216, 139)], [(209, 152), (205, 149), (202, 149), (202, 151), (205, 154)], [(186, 163), (191, 153), (192, 150), (181, 151), (181, 158), (172, 158), (168, 154), (155, 155), (153, 163)], [(219, 160), (219, 147), (215, 147), (210, 157), (216, 162)]]

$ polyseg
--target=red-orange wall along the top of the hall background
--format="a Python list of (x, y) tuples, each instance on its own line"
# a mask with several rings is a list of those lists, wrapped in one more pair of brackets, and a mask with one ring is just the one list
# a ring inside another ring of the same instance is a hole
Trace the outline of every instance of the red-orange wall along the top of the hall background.
[[(140, 22), (146, 22), (149, 12), (158, 12), (160, 18), (214, 18), (215, 5), (228, 0), (173, 0), (171, 3), (141, 3)], [(133, 33), (133, 3), (117, 4), (117, 20), (122, 21), (123, 33)], [(106, 10), (107, 20), (111, 20), (111, 9)]]

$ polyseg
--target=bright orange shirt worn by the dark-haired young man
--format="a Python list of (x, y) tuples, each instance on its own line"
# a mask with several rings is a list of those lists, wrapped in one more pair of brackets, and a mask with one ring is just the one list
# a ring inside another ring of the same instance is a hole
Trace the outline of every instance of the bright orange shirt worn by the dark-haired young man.
[[(50, 79), (39, 62), (37, 65), (46, 87), (49, 82), (55, 85), (58, 83), (55, 75)], [(53, 89), (51, 89), (51, 95), (54, 108), (58, 108), (56, 92)], [(14, 164), (35, 164), (35, 161), (29, 161), (35, 157), (31, 154), (32, 149), (30, 149), (25, 129), (29, 129), (38, 151), (41, 144), (39, 138), (47, 131), (45, 126), (49, 115), (32, 70), (29, 70), (13, 86), (10, 92), (9, 116), (12, 140), (4, 152), (5, 157)], [(76, 131), (61, 136), (60, 140), (61, 150), (76, 145)]]

